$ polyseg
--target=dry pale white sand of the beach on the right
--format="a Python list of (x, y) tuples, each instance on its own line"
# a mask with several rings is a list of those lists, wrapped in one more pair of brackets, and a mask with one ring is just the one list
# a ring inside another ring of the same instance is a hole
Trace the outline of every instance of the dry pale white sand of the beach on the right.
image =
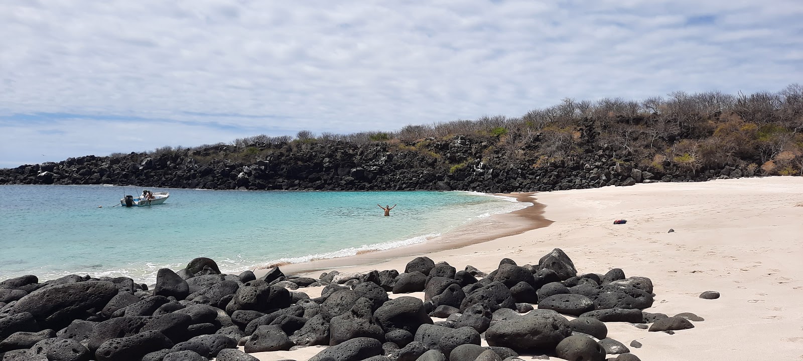
[[(630, 350), (644, 361), (803, 359), (803, 177), (569, 190), (536, 199), (554, 224), (428, 256), (490, 272), (501, 258), (536, 264), (558, 247), (580, 273), (618, 267), (649, 277), (656, 297), (647, 311), (693, 312), (705, 321), (675, 335), (607, 322), (609, 337), (643, 344)], [(627, 224), (613, 225), (618, 218)], [(410, 259), (340, 271), (403, 271)], [(698, 298), (705, 290), (722, 297)], [(320, 349), (253, 355), (304, 361)]]

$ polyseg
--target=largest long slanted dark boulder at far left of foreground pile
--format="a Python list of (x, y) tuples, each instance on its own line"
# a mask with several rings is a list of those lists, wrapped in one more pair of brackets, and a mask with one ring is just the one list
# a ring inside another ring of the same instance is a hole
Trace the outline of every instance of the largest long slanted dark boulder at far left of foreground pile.
[(21, 298), (11, 307), (10, 313), (30, 313), (39, 326), (60, 330), (74, 319), (87, 318), (90, 310), (102, 309), (116, 294), (117, 286), (104, 281), (47, 286)]

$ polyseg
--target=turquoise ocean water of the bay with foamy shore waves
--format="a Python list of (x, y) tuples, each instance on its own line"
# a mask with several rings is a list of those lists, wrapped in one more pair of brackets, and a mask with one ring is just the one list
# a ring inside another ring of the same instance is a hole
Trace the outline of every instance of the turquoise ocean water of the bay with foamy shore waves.
[[(528, 205), (467, 192), (150, 190), (170, 197), (124, 208), (120, 198), (141, 188), (0, 185), (0, 280), (91, 274), (153, 282), (160, 268), (196, 257), (239, 273), (413, 245)], [(377, 203), (398, 205), (384, 217)]]

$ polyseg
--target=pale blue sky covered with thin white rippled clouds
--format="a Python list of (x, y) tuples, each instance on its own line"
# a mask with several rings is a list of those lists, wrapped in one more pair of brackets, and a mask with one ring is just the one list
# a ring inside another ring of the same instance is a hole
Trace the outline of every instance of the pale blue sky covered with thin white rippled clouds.
[(0, 0), (0, 168), (803, 83), (800, 0)]

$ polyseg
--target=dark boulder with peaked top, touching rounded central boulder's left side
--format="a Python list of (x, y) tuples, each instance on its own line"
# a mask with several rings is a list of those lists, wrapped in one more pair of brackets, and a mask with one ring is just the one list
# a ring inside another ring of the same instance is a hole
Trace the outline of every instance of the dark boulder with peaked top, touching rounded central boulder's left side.
[(332, 317), (329, 323), (329, 345), (338, 345), (358, 337), (384, 341), (385, 331), (382, 331), (382, 327), (373, 318), (371, 306), (372, 302), (368, 298), (360, 298), (349, 312)]

